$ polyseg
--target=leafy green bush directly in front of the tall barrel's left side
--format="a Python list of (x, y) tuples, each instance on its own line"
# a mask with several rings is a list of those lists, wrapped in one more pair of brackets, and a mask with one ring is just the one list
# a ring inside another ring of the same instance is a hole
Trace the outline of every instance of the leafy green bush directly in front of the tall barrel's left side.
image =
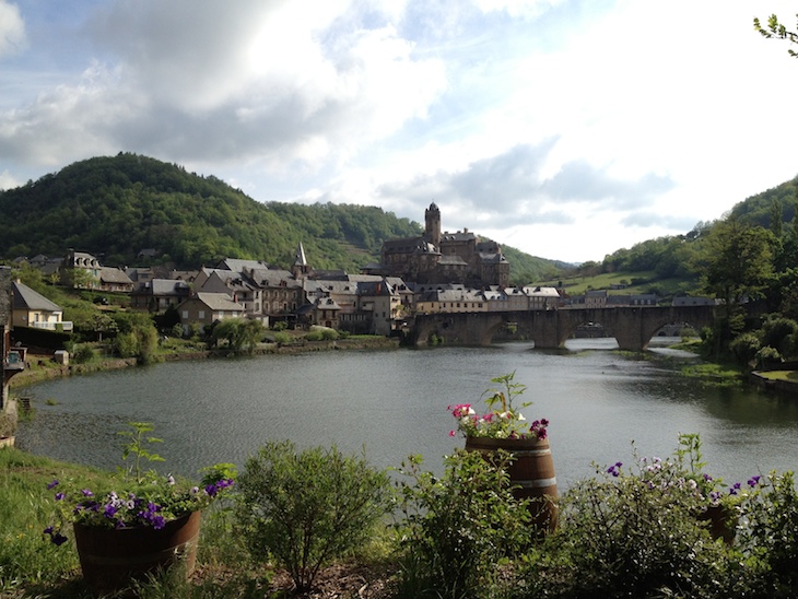
[(491, 597), (498, 566), (530, 543), (530, 513), (514, 497), (500, 453), (456, 450), (436, 477), (410, 456), (397, 483), (402, 597)]

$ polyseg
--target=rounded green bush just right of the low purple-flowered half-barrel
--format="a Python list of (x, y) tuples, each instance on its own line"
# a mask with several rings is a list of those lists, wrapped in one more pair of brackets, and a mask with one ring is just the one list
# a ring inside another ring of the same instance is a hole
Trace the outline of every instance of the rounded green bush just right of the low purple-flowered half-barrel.
[(368, 539), (390, 497), (388, 475), (365, 457), (335, 446), (297, 454), (287, 441), (247, 460), (238, 491), (237, 520), (251, 555), (273, 555), (301, 591), (322, 565)]

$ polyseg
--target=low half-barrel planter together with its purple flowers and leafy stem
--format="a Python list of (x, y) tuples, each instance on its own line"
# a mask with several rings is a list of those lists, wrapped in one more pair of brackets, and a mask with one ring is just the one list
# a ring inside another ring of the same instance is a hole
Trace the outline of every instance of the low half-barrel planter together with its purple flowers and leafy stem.
[(150, 453), (145, 437), (152, 425), (128, 423), (132, 431), (122, 460), (133, 456), (128, 469), (120, 469), (104, 489), (75, 488), (54, 480), (56, 517), (44, 531), (58, 545), (74, 532), (81, 569), (86, 583), (97, 592), (108, 592), (144, 578), (159, 569), (180, 564), (186, 575), (193, 571), (201, 510), (233, 485), (233, 465), (220, 463), (203, 470), (201, 485), (176, 480), (154, 470), (142, 471), (142, 460), (164, 461)]

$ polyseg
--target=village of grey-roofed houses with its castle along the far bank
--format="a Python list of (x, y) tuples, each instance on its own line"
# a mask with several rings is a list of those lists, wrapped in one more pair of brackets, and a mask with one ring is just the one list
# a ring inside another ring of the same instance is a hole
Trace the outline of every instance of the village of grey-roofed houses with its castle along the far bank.
[[(140, 252), (142, 257), (154, 255), (152, 249)], [(15, 261), (40, 269), (45, 280), (54, 283), (129, 295), (128, 306), (133, 310), (161, 314), (176, 309), (185, 336), (226, 318), (256, 319), (265, 327), (316, 325), (387, 337), (401, 331), (419, 314), (657, 304), (654, 294), (597, 290), (568, 296), (561, 287), (511, 286), (511, 265), (498, 244), (483, 242), (468, 230), (442, 232), (435, 203), (425, 211), (422, 235), (386, 240), (382, 262), (366, 265), (357, 274), (315, 270), (302, 243), (290, 270), (235, 258), (193, 271), (115, 268), (74, 249), (62, 258), (37, 256)], [(72, 328), (58, 305), (20, 282), (14, 283), (12, 326), (63, 332)]]

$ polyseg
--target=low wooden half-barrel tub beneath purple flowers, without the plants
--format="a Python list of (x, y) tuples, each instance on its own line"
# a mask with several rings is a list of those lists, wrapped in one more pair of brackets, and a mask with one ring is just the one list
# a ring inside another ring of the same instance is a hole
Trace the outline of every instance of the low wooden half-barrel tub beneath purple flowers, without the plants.
[(166, 522), (164, 528), (102, 528), (74, 525), (83, 578), (97, 594), (113, 592), (148, 574), (179, 564), (190, 576), (197, 561), (201, 513)]

